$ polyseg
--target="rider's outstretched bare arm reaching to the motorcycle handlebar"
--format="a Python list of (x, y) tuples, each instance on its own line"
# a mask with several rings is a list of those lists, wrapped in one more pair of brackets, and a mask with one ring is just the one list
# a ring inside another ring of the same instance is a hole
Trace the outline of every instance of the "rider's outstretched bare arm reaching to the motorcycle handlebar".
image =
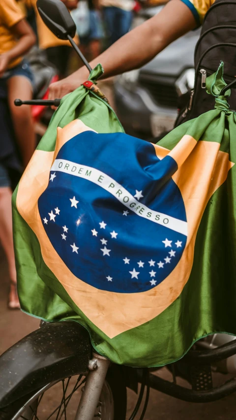
[[(105, 71), (103, 79), (139, 68), (175, 39), (195, 27), (196, 21), (188, 6), (181, 0), (171, 0), (160, 13), (128, 32), (90, 65), (93, 68), (97, 63), (101, 63)], [(72, 92), (85, 82), (88, 76), (88, 69), (85, 66), (81, 67), (65, 79), (53, 83), (50, 86), (49, 98), (60, 98)]]

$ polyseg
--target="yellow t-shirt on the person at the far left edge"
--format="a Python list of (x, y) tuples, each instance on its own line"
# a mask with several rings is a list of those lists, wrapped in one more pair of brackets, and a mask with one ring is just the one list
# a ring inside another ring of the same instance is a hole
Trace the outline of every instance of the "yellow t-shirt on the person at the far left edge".
[[(24, 18), (25, 15), (15, 0), (0, 0), (0, 54), (6, 53), (17, 44), (12, 27)], [(18, 65), (21, 60), (18, 57), (8, 67)]]

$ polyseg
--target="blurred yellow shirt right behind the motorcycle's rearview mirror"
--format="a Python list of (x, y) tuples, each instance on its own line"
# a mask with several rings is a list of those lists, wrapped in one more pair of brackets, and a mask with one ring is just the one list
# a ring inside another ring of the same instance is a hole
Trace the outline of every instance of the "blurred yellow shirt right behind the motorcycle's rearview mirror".
[[(5, 1), (5, 0), (0, 0)], [(70, 45), (69, 41), (62, 41), (53, 32), (51, 32), (48, 27), (43, 23), (41, 17), (39, 16), (37, 7), (36, 7), (37, 0), (23, 0), (23, 2), (28, 7), (33, 7), (35, 10), (36, 16), (36, 25), (37, 25), (37, 32), (38, 32), (38, 46), (42, 50), (50, 47), (57, 47), (59, 45)], [(78, 43), (78, 38), (75, 36), (74, 41)]]

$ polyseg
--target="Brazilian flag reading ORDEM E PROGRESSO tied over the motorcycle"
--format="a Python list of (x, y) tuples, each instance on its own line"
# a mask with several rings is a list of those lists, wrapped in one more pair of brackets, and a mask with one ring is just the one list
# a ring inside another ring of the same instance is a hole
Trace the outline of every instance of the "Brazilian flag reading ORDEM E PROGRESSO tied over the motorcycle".
[(63, 98), (14, 193), (21, 307), (81, 323), (113, 362), (161, 366), (236, 334), (236, 113), (221, 63), (215, 109), (148, 143), (96, 95), (101, 72)]

